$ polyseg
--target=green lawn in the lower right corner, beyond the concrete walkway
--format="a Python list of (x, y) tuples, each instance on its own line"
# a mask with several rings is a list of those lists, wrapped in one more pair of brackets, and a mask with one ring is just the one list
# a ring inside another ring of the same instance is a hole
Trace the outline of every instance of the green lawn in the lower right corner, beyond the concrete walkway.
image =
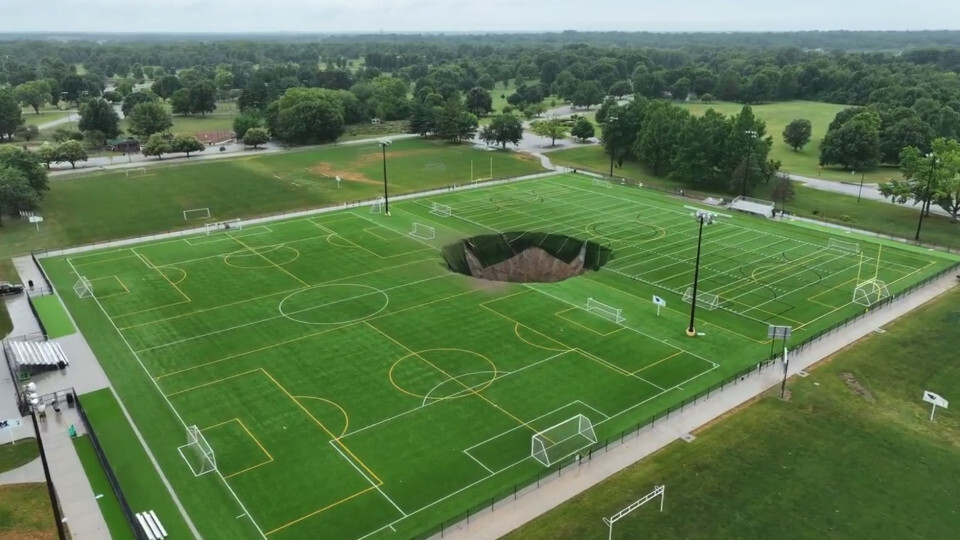
[(600, 518), (660, 484), (664, 512), (635, 511), (615, 538), (952, 538), (960, 415), (931, 423), (920, 396), (960, 393), (958, 303), (955, 290), (791, 380), (789, 402), (767, 396), (506, 538), (607, 538)]

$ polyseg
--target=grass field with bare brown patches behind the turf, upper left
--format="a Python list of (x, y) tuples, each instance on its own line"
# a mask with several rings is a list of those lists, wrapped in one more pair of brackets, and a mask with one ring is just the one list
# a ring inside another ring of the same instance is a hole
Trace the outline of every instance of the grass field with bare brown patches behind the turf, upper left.
[[(512, 152), (482, 152), (471, 145), (405, 140), (387, 151), (394, 194), (541, 171), (539, 161)], [(428, 165), (433, 167), (428, 168)], [(50, 183), (38, 232), (22, 220), (4, 220), (0, 253), (65, 247), (171, 229), (199, 227), (183, 211), (209, 208), (212, 219), (253, 217), (370, 199), (383, 191), (376, 143), (330, 146), (148, 169), (145, 177), (123, 171), (94, 173)], [(337, 188), (334, 177), (343, 182)]]

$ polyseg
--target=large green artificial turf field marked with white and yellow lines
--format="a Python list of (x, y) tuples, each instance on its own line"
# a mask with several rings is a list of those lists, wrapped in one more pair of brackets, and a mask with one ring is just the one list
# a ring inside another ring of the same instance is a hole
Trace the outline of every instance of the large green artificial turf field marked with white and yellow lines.
[[(858, 280), (896, 293), (956, 263), (722, 218), (704, 232), (700, 273), (718, 306), (698, 310), (691, 339), (697, 223), (683, 202), (566, 175), (390, 208), (43, 259), (61, 291), (90, 281), (94, 296), (65, 294), (68, 308), (205, 536), (427, 534), (542, 473), (536, 433), (582, 415), (602, 444), (766, 359), (768, 324), (800, 340), (863, 311)], [(450, 272), (438, 254), (519, 231), (613, 257), (563, 282), (506, 284)], [(590, 446), (577, 430), (557, 436), (566, 427), (545, 437), (551, 466)]]

